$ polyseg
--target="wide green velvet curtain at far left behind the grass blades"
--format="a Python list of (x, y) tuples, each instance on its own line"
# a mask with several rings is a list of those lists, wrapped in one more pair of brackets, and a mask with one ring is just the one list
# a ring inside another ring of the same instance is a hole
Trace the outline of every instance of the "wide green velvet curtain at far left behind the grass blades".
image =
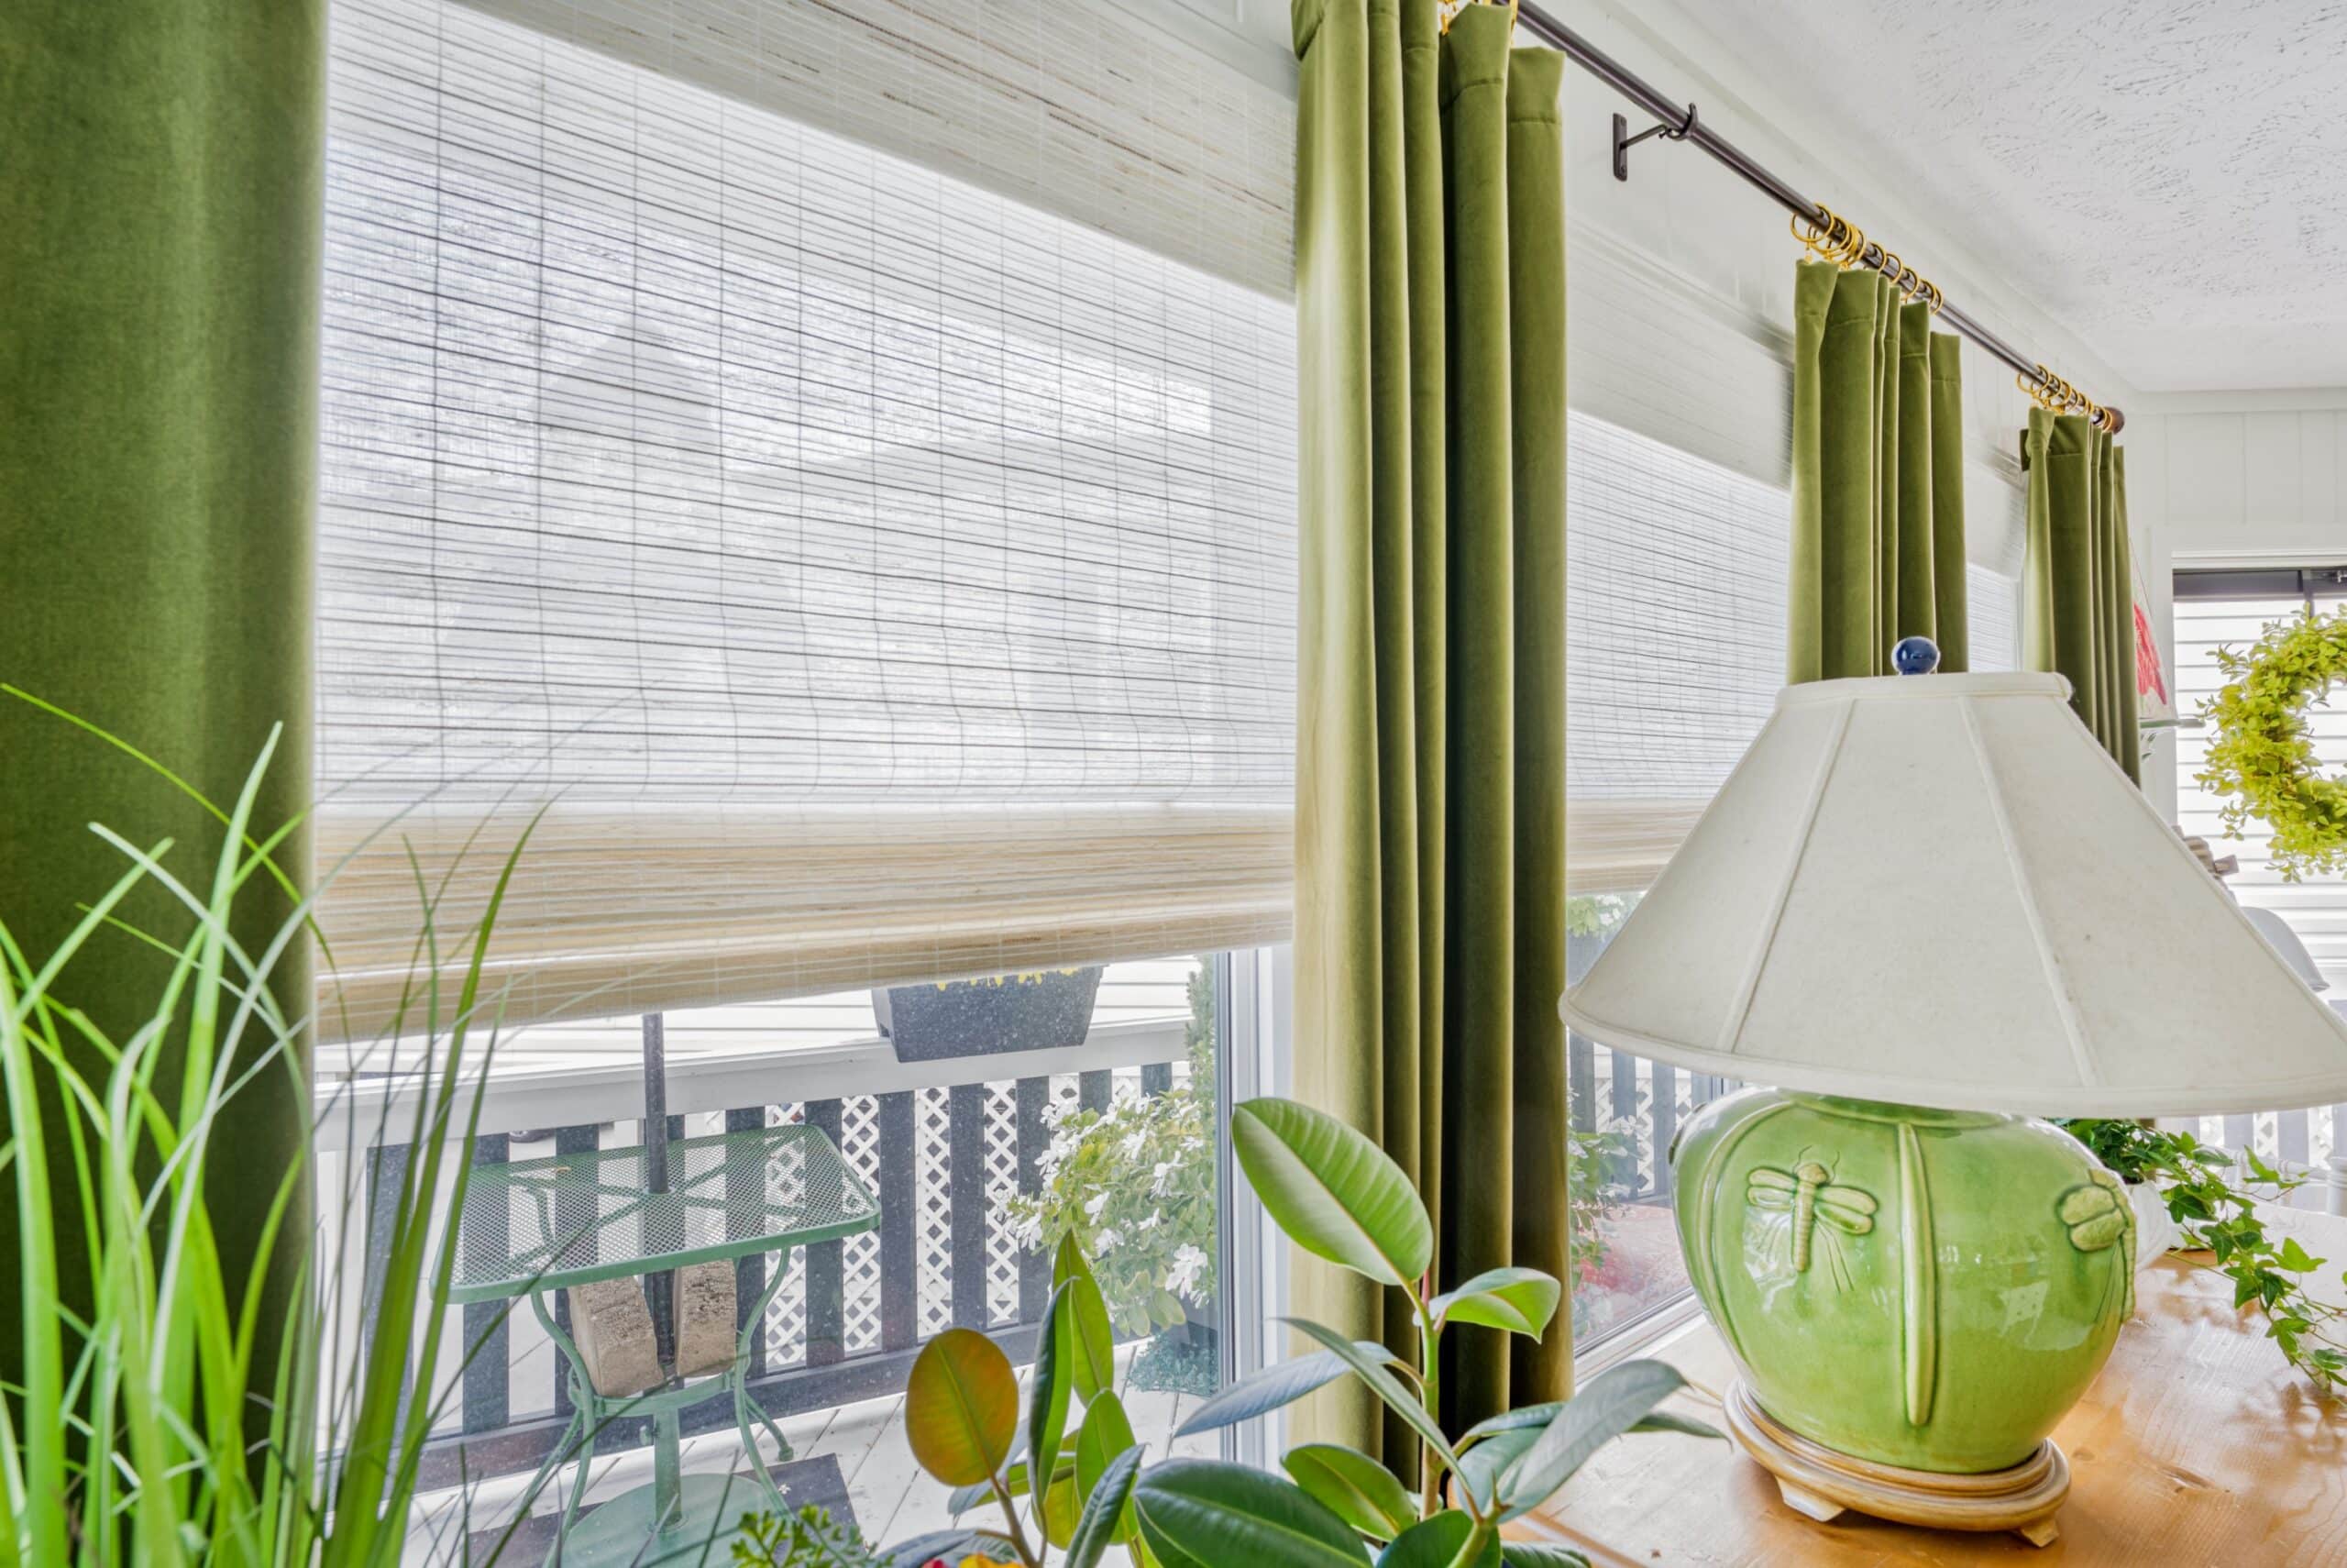
[[(324, 202), (322, 0), (12, 0), (0, 7), (0, 681), (106, 725), (232, 803), (272, 723), (286, 725), (256, 831), (310, 798), (310, 538)], [(207, 887), (221, 826), (134, 761), (0, 697), (0, 922), (35, 958), (127, 869), (87, 829)], [(307, 840), (282, 852), (307, 873)], [(181, 941), (148, 892), (124, 913)], [(244, 899), (258, 953), (289, 915)], [(101, 937), (59, 995), (117, 1040), (169, 965)], [(300, 953), (277, 969), (310, 1012)], [(307, 1145), (307, 1094), (265, 1073), (214, 1148), (211, 1202), (242, 1291), (263, 1207)], [(0, 1178), (5, 1181), (5, 1178)], [(70, 1188), (68, 1188), (70, 1190)], [(68, 1228), (63, 1289), (89, 1291)], [(286, 1216), (307, 1237), (307, 1204)], [(16, 1256), (14, 1192), (0, 1256)], [(282, 1246), (263, 1340), (293, 1305)], [(0, 1291), (12, 1317), (14, 1293)], [(16, 1324), (0, 1324), (14, 1378)], [(275, 1364), (263, 1343), (258, 1383)], [(54, 1413), (52, 1413), (54, 1415)]]

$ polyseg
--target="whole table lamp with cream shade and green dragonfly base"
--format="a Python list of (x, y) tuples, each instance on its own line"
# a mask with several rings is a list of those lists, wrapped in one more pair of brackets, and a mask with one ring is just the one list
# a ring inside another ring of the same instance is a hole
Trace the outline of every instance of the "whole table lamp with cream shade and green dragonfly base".
[(2047, 1437), (2133, 1312), (2119, 1178), (2047, 1115), (2347, 1101), (2347, 1021), (2049, 674), (1817, 681), (1580, 986), (1575, 1030), (1770, 1084), (1673, 1145), (1737, 1441), (1831, 1519), (2056, 1535)]

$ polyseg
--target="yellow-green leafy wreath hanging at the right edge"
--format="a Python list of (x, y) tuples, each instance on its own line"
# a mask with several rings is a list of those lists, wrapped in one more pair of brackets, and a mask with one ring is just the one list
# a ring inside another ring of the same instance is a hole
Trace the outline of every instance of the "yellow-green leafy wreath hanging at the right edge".
[(2347, 610), (2277, 620), (2216, 662), (2225, 685), (2199, 711), (2211, 737), (2197, 777), (2225, 796), (2225, 831), (2246, 838), (2263, 822), (2291, 883), (2347, 871), (2347, 779), (2316, 768), (2307, 737), (2307, 709), (2347, 681)]

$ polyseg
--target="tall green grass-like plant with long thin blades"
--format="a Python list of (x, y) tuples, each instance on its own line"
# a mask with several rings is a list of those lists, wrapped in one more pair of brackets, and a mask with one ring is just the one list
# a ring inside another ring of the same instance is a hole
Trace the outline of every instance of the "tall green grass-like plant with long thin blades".
[[(202, 800), (131, 746), (101, 739)], [(390, 1232), (380, 1310), (373, 1343), (343, 1366), (324, 1350), (340, 1307), (340, 1270), (322, 1289), (312, 1237), (286, 1228), (307, 1164), (277, 1176), (244, 1277), (230, 1275), (207, 1209), (218, 1197), (216, 1171), (237, 1160), (218, 1136), (223, 1110), (263, 1075), (300, 1080), (296, 1045), (310, 1023), (289, 1016), (270, 991), (270, 976), (310, 930), (310, 904), (261, 951), (239, 944), (230, 920), (253, 878), (293, 887), (272, 857), (298, 822), (265, 836), (251, 822), (275, 746), (272, 737), (232, 807), (204, 800), (223, 824), (209, 885), (174, 876), (169, 840), (141, 847), (96, 826), (124, 869), (66, 941), (54, 953), (26, 953), (0, 927), (0, 1167), (16, 1199), (14, 1289), (23, 1319), (23, 1383), (0, 1399), (5, 1563), (380, 1568), (397, 1563), (406, 1545), (422, 1446), (439, 1413), (432, 1390), (441, 1383), (455, 1268), (455, 1228), (432, 1237), (432, 1195), (446, 1178), (462, 1204), (479, 1091), (460, 1091), (460, 1068), (483, 1066), (493, 1045), (481, 1042), (493, 1035), (495, 1012), (481, 993), (481, 960), (521, 845), (486, 915), (460, 937), (469, 965), (453, 998), (430, 979), (439, 974), (437, 890), (418, 883), (427, 979), (392, 1033), (427, 1045), (411, 1124), (399, 1138), (404, 1138), (415, 1160), (397, 1190), (378, 1192)], [(160, 937), (120, 918), (122, 901), (143, 885), (162, 887), (188, 913), (185, 934)], [(70, 960), (101, 934), (148, 941), (171, 958), (169, 979), (122, 1038), (59, 991)], [(467, 1063), (467, 1049), (476, 1061)], [(61, 1138), (42, 1122), (42, 1101), (63, 1106)], [(239, 1176), (253, 1185), (249, 1171)], [(354, 1181), (340, 1197), (345, 1207), (361, 1202)], [(256, 1345), (268, 1338), (263, 1279), (277, 1249), (300, 1249), (300, 1289), (291, 1319), (270, 1324), (275, 1359), (258, 1364)], [(61, 1277), (75, 1256), (87, 1258), (87, 1291)], [(77, 1298), (94, 1303), (87, 1319), (68, 1305)]]

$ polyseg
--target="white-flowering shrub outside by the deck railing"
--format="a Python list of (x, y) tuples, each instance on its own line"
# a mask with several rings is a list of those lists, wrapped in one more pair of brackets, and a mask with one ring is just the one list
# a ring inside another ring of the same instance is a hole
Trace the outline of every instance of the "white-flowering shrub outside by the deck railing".
[(1190, 976), (1190, 1075), (1148, 1096), (1120, 1087), (1108, 1110), (1054, 1103), (1042, 1190), (1009, 1202), (1021, 1246), (1061, 1239), (1091, 1258), (1124, 1336), (1211, 1307), (1213, 1277), (1213, 972)]

